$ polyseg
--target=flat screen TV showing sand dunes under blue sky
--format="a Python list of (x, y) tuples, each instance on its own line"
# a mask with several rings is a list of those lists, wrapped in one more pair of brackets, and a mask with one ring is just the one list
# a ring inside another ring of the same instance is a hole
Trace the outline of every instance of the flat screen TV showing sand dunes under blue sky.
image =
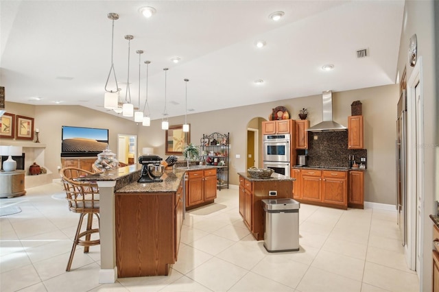
[(61, 157), (97, 156), (108, 145), (108, 129), (62, 126)]

